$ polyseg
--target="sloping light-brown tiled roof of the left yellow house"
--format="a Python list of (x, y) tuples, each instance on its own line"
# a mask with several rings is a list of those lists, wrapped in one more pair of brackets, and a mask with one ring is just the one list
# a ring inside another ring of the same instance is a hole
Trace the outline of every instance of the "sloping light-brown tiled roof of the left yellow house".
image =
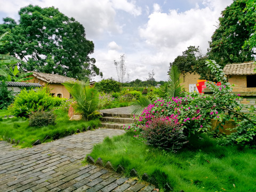
[(28, 71), (28, 72), (32, 72), (33, 76), (47, 83), (65, 83), (70, 81), (73, 81), (73, 82), (76, 81), (75, 78), (65, 77), (62, 75), (39, 73), (35, 71)]

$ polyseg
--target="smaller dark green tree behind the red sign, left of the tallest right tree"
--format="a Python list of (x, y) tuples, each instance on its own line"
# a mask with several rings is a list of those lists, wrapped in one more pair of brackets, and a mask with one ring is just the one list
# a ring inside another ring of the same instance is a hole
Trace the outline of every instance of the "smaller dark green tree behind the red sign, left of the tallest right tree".
[(189, 46), (186, 51), (182, 52), (170, 63), (170, 69), (172, 66), (177, 66), (179, 71), (185, 73), (197, 73), (201, 79), (213, 80), (214, 76), (211, 71), (205, 66), (205, 60), (207, 57), (199, 51), (199, 46)]

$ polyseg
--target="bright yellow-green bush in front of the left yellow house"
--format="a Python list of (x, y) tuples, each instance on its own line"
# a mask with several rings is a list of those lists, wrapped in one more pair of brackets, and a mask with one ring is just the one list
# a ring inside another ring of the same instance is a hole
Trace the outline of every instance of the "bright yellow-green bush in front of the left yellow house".
[(12, 115), (27, 118), (33, 111), (48, 111), (60, 103), (60, 98), (51, 97), (46, 87), (36, 91), (24, 89), (14, 98), (14, 103), (9, 109)]

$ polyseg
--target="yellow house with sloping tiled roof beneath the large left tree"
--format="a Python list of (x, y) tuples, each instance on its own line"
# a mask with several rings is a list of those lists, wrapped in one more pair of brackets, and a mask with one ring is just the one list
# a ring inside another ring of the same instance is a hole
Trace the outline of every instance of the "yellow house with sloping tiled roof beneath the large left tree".
[(47, 84), (47, 86), (51, 90), (52, 96), (60, 98), (70, 98), (68, 90), (65, 88), (64, 85), (62, 85), (62, 83), (70, 81), (75, 82), (75, 78), (65, 77), (56, 74), (39, 73), (35, 71), (29, 72), (33, 72), (33, 74), (29, 76), (33, 77), (33, 79), (28, 80), (29, 83), (39, 83), (42, 86), (45, 86)]

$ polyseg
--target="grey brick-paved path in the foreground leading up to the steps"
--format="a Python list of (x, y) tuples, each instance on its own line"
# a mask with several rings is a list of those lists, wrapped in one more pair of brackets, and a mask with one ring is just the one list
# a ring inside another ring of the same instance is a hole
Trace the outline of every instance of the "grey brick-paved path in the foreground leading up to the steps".
[(81, 161), (107, 136), (124, 130), (86, 131), (33, 148), (0, 141), (0, 191), (152, 191), (154, 187)]

